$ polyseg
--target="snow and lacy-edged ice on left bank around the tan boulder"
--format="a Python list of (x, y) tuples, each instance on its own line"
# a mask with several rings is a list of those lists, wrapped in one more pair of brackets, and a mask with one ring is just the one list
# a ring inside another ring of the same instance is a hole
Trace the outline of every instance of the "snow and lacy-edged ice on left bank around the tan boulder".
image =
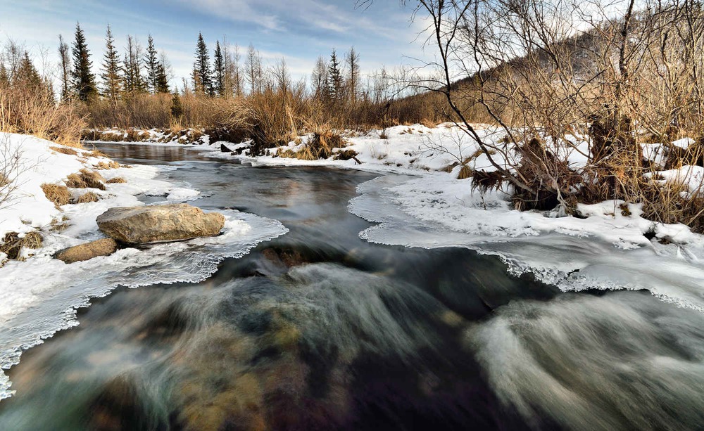
[[(52, 149), (54, 148), (54, 149)], [(135, 165), (117, 169), (96, 167), (111, 160), (90, 150), (63, 148), (49, 141), (18, 134), (0, 134), (2, 154), (18, 157), (17, 187), (0, 205), (0, 239), (6, 233), (39, 231), (44, 243), (37, 250), (23, 249), (24, 262), (0, 256), (0, 368), (16, 364), (23, 349), (37, 345), (57, 330), (77, 324), (75, 309), (90, 298), (107, 295), (118, 285), (138, 287), (154, 283), (202, 281), (213, 274), (225, 257), (244, 255), (263, 240), (287, 230), (278, 221), (253, 214), (223, 211), (222, 235), (180, 243), (125, 248), (109, 257), (65, 264), (52, 256), (58, 250), (102, 238), (96, 217), (109, 207), (143, 205), (139, 195), (164, 196), (166, 202), (194, 200), (199, 191), (156, 179), (161, 167)], [(0, 160), (1, 161), (1, 160)], [(69, 189), (74, 197), (90, 191), (97, 202), (54, 205), (42, 184), (65, 184), (66, 177), (90, 169), (106, 180), (124, 183), (96, 188)], [(57, 225), (65, 225), (57, 230)], [(10, 382), (0, 372), (0, 399), (10, 396)]]

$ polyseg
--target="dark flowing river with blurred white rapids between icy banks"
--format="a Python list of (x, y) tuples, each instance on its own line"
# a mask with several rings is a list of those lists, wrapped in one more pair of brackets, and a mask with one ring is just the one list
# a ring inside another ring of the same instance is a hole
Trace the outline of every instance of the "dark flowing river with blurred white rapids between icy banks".
[(370, 174), (100, 149), (289, 233), (201, 283), (94, 300), (11, 369), (0, 430), (704, 427), (703, 314), (367, 243), (347, 205)]

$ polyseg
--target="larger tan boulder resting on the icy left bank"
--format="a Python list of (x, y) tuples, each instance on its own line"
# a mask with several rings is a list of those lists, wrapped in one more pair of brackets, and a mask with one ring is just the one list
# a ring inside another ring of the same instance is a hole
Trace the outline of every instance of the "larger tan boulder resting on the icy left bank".
[(222, 214), (206, 214), (188, 204), (114, 207), (100, 214), (96, 221), (107, 236), (127, 244), (215, 236), (225, 226)]

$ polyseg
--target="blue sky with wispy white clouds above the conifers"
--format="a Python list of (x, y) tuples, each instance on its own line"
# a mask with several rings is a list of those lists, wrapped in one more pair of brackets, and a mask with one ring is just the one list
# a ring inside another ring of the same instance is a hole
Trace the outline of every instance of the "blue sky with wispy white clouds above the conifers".
[(318, 56), (354, 46), (363, 72), (382, 65), (413, 65), (427, 58), (418, 37), (422, 23), (399, 0), (0, 0), (0, 43), (23, 44), (42, 70), (56, 67), (58, 35), (73, 41), (76, 22), (84, 30), (97, 72), (111, 25), (120, 50), (127, 34), (146, 46), (149, 34), (172, 65), (174, 82), (192, 70), (199, 32), (210, 49), (227, 37), (240, 52), (253, 44), (265, 62), (285, 58), (294, 79), (308, 77)]

